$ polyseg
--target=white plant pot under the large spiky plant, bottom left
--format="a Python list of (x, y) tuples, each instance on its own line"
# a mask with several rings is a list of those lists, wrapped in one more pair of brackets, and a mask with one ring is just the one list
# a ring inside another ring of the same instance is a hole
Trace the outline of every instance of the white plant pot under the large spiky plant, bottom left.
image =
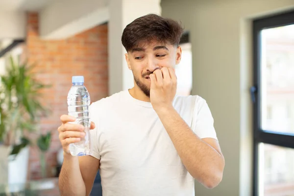
[(10, 150), (11, 147), (0, 146), (0, 184), (5, 185), (6, 191), (18, 192), (25, 189), (29, 147), (17, 156), (9, 155)]

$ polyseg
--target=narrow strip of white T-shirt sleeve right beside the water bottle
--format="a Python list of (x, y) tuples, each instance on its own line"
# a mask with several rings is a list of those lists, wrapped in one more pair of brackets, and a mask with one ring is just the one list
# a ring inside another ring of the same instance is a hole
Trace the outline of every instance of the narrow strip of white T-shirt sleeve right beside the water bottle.
[(99, 117), (98, 115), (95, 114), (95, 103), (92, 103), (90, 106), (90, 118), (93, 123), (95, 123), (95, 129), (90, 130), (90, 145), (91, 145), (91, 150), (90, 150), (90, 155), (100, 159), (100, 152), (98, 148), (98, 129), (99, 129)]

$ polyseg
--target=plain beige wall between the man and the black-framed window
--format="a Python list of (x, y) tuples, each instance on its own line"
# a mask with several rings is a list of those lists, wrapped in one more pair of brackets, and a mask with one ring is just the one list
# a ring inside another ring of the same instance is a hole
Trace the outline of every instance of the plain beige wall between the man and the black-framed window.
[(205, 98), (226, 159), (221, 184), (196, 196), (251, 196), (251, 21), (294, 8), (294, 0), (162, 0), (162, 16), (190, 31), (193, 94)]

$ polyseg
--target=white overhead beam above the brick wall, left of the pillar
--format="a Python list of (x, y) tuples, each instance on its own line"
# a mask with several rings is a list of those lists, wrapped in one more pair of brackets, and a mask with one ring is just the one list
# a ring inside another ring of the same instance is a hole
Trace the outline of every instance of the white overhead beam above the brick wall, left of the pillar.
[(40, 12), (40, 36), (64, 39), (109, 19), (107, 0), (56, 0)]

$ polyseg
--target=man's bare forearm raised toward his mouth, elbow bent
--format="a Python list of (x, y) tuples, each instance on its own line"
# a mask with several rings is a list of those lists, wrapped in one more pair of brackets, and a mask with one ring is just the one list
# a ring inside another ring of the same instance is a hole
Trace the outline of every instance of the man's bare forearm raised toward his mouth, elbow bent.
[(196, 136), (174, 108), (157, 114), (188, 172), (207, 187), (218, 184), (224, 167), (221, 153)]

